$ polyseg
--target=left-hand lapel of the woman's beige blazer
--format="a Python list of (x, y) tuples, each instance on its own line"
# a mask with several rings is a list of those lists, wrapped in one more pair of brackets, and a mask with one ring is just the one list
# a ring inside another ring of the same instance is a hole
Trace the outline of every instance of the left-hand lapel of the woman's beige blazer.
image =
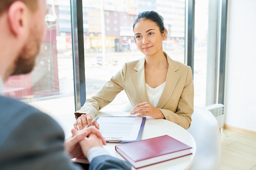
[(146, 91), (144, 63), (145, 57), (142, 57), (136, 64), (136, 66), (133, 68), (137, 72), (132, 74), (132, 79), (137, 90), (137, 93), (139, 94), (139, 97), (141, 99), (141, 102), (149, 102)]

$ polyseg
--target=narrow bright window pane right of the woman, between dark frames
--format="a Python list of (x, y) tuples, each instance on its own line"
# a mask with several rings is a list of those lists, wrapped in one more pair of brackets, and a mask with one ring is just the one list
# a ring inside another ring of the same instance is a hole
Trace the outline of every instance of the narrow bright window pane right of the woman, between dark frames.
[(196, 106), (216, 103), (218, 0), (195, 0), (194, 89)]

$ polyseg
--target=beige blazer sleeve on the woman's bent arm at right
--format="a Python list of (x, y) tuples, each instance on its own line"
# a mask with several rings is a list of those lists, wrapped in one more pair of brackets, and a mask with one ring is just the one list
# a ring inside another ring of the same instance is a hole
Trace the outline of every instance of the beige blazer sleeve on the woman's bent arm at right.
[[(188, 67), (186, 72), (186, 81), (184, 87), (182, 87), (182, 93), (177, 99), (177, 108), (168, 110), (159, 108), (165, 119), (172, 121), (185, 129), (188, 129), (191, 124), (191, 116), (194, 112), (194, 85), (191, 67)], [(175, 104), (176, 106), (176, 104)]]

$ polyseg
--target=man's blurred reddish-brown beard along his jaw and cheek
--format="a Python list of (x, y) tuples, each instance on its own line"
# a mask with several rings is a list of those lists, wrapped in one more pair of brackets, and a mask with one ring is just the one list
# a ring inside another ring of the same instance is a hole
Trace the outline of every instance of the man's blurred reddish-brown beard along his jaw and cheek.
[(11, 75), (27, 74), (33, 70), (36, 56), (40, 50), (40, 43), (40, 37), (36, 34), (35, 30), (32, 29), (27, 43), (20, 51), (20, 55), (15, 62)]

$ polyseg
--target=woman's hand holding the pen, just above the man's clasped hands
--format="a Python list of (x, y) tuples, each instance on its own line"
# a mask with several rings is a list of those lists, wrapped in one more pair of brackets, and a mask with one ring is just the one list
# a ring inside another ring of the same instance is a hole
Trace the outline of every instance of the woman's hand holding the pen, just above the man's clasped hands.
[(80, 117), (78, 117), (74, 123), (74, 128), (76, 130), (82, 130), (86, 125), (95, 126), (95, 128), (99, 129), (99, 124), (97, 121), (92, 123), (92, 116), (90, 114), (82, 114)]

